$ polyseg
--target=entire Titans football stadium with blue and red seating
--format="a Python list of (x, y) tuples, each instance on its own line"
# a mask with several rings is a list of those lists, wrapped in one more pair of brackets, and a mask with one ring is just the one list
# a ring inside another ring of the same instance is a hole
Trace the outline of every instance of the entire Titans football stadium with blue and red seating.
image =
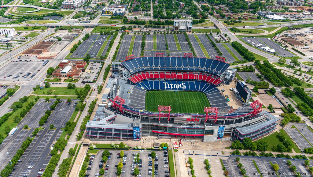
[[(86, 125), (90, 139), (141, 140), (142, 136), (201, 137), (204, 142), (250, 137), (273, 132), (278, 118), (250, 102), (251, 91), (234, 79), (222, 57), (126, 57), (112, 63), (115, 78), (104, 117)], [(233, 109), (222, 84), (235, 82), (242, 106)]]

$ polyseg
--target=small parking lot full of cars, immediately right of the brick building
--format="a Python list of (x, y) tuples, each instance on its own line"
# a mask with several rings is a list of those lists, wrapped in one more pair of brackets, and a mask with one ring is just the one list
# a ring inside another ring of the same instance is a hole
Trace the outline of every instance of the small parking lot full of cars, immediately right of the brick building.
[(101, 62), (90, 63), (81, 76), (81, 78), (84, 78), (82, 82), (94, 82), (97, 80), (98, 73), (101, 71), (102, 66), (103, 63)]

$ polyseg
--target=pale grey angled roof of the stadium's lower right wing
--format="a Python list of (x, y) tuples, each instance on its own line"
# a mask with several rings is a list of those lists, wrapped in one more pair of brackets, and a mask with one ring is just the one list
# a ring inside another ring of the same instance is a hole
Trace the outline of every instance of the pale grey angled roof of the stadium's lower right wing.
[(268, 112), (266, 111), (262, 111), (260, 112), (259, 114), (261, 115), (267, 115), (268, 118), (270, 119), (269, 121), (265, 121), (265, 122), (261, 122), (261, 123), (258, 123), (258, 124), (254, 124), (252, 126), (247, 126), (247, 127), (242, 127), (242, 128), (236, 128), (237, 131), (239, 131), (239, 133), (241, 135), (245, 135), (245, 134), (248, 134), (248, 133), (251, 133), (251, 132), (254, 132), (254, 131), (257, 131), (261, 128), (264, 128), (266, 126), (269, 126), (275, 122), (277, 122), (279, 119), (271, 114), (269, 114)]

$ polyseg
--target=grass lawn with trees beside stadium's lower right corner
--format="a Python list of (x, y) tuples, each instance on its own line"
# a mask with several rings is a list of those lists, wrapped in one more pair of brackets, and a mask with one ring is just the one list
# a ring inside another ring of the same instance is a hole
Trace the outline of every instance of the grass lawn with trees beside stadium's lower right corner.
[[(296, 153), (301, 153), (300, 149), (295, 145), (295, 143), (290, 139), (290, 137), (287, 135), (287, 133), (283, 130), (283, 129), (280, 129), (280, 132), (282, 132), (285, 136), (285, 138), (287, 140), (289, 140), (290, 142), (292, 142), (292, 148), (295, 150)], [(260, 139), (260, 140), (263, 140), (265, 142), (267, 142), (269, 144), (269, 147), (267, 148), (266, 151), (273, 151), (272, 148), (274, 146), (277, 146), (278, 144), (281, 144), (282, 142), (279, 141), (279, 139), (276, 137), (278, 135), (278, 132), (276, 131), (275, 133), (267, 136), (267, 137), (264, 137), (263, 139)], [(258, 141), (260, 141), (258, 140)]]

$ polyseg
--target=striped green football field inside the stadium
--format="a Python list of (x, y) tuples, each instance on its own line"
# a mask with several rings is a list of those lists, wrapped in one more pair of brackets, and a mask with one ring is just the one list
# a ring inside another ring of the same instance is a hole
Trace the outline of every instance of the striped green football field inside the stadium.
[(203, 108), (210, 107), (207, 96), (202, 92), (157, 91), (146, 93), (146, 110), (158, 112), (157, 105), (172, 106), (171, 112), (203, 114)]

